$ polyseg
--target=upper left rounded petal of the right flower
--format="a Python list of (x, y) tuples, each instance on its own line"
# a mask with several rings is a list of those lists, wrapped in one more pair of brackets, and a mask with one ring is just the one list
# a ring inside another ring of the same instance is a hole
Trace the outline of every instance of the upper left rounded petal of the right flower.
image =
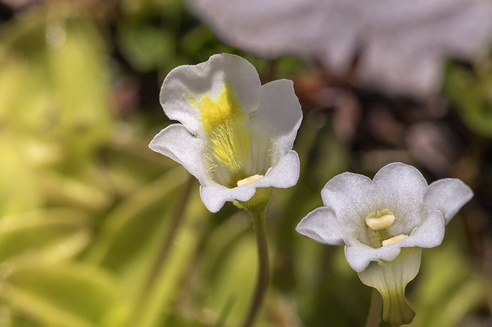
[(333, 177), (321, 190), (325, 206), (333, 209), (338, 221), (350, 228), (366, 229), (366, 217), (370, 213), (368, 203), (374, 187), (369, 177), (345, 172)]

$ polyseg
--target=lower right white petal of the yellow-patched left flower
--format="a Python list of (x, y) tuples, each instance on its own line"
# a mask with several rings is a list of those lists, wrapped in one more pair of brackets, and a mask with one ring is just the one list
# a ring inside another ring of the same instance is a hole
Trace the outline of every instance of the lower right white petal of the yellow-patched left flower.
[(299, 155), (296, 151), (290, 150), (280, 158), (277, 165), (270, 169), (265, 177), (252, 183), (254, 187), (276, 187), (280, 189), (290, 188), (296, 185), (300, 171)]

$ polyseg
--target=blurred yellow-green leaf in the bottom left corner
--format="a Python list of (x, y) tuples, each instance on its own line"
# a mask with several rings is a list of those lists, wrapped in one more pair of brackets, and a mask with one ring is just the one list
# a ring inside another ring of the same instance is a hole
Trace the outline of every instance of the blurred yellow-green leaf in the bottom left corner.
[(113, 275), (87, 264), (26, 262), (2, 281), (3, 302), (48, 326), (96, 326), (118, 300)]

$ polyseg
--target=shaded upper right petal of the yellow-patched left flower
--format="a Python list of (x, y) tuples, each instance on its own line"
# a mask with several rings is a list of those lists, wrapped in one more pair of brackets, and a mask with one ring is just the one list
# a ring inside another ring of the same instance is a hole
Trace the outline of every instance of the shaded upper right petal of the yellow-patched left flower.
[(303, 118), (294, 83), (277, 80), (262, 85), (258, 110), (251, 118), (252, 125), (259, 124), (271, 133), (277, 151), (285, 154), (291, 150)]

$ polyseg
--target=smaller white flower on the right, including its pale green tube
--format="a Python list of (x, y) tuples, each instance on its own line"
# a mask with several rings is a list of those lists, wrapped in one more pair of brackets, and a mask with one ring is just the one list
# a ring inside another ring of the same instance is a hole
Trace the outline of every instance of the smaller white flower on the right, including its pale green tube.
[(332, 178), (321, 191), (324, 206), (296, 230), (321, 243), (345, 243), (350, 267), (381, 293), (383, 319), (400, 326), (415, 316), (404, 291), (419, 272), (421, 248), (441, 244), (444, 226), (472, 196), (459, 179), (428, 186), (416, 168), (387, 164), (373, 180), (349, 172)]

